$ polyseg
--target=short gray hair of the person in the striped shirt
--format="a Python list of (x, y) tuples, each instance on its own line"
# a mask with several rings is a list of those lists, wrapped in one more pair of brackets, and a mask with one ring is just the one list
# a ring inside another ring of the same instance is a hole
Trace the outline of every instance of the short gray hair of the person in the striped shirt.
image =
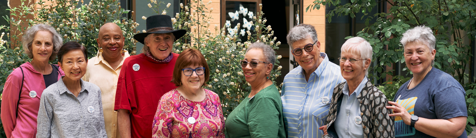
[(301, 23), (289, 30), (286, 39), (288, 40), (288, 45), (293, 48), (294, 42), (302, 39), (307, 39), (307, 37), (311, 37), (313, 41), (317, 41), (316, 29), (312, 25)]

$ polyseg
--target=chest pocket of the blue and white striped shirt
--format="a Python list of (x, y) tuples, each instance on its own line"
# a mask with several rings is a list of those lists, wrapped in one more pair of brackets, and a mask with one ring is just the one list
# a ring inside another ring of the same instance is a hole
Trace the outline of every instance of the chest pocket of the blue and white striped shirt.
[[(323, 97), (318, 97), (317, 99), (315, 99), (314, 103), (311, 107), (311, 110), (313, 111), (312, 112), (312, 115), (314, 115), (315, 117), (317, 117), (317, 122), (320, 124), (320, 123), (326, 123), (326, 119), (327, 119), (327, 114), (329, 113), (329, 106), (330, 106), (330, 101), (327, 102), (327, 104), (324, 104), (322, 102), (322, 99)], [(331, 99), (329, 99), (331, 100)], [(321, 121), (321, 122), (319, 122)], [(325, 125), (325, 124), (324, 124)]]

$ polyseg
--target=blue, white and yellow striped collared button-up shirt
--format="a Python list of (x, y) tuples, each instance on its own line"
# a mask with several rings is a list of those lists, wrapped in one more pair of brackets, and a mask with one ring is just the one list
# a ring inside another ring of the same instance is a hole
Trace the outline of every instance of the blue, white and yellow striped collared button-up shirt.
[(281, 89), (284, 124), (289, 138), (321, 138), (323, 131), (317, 128), (326, 125), (329, 101), (337, 84), (346, 81), (340, 74), (340, 67), (329, 62), (326, 53), (320, 53), (324, 60), (312, 72), (306, 82), (301, 66), (289, 71), (284, 77)]

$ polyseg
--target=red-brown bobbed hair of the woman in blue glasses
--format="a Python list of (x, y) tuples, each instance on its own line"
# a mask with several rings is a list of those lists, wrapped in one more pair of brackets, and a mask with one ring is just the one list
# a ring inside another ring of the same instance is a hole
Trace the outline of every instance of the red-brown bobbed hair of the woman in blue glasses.
[[(205, 82), (210, 78), (210, 70), (208, 68), (207, 60), (203, 57), (202, 53), (198, 49), (185, 49), (180, 56), (178, 56), (177, 61), (175, 61), (175, 67), (173, 72), (172, 81), (175, 86), (182, 85), (182, 69), (185, 69), (187, 66), (203, 66), (205, 68)], [(203, 82), (203, 84), (205, 84)]]

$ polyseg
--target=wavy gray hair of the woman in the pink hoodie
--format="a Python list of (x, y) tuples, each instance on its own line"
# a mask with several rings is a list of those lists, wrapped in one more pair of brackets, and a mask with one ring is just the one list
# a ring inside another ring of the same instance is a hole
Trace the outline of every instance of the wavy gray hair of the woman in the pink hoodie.
[(28, 29), (21, 39), (23, 43), (23, 50), (28, 55), (28, 58), (33, 59), (33, 54), (31, 53), (31, 45), (33, 44), (33, 39), (38, 31), (49, 31), (53, 34), (53, 51), (51, 52), (50, 61), (56, 59), (56, 55), (60, 50), (61, 45), (63, 45), (63, 38), (61, 38), (60, 34), (55, 30), (55, 28), (51, 27), (48, 24), (36, 24)]

